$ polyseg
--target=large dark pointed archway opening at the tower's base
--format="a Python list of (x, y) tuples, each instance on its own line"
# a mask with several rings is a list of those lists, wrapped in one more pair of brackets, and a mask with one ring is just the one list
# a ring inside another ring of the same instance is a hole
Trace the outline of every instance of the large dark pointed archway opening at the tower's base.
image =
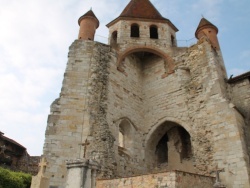
[(191, 136), (181, 125), (166, 121), (147, 141), (145, 159), (150, 169), (193, 172)]

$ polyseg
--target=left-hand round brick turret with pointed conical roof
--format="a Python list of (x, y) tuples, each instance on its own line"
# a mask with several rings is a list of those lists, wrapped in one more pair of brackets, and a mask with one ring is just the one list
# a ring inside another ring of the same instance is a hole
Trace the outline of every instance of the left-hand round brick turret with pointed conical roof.
[(78, 20), (80, 26), (78, 39), (80, 40), (94, 40), (95, 31), (99, 27), (99, 20), (92, 10), (89, 10)]

